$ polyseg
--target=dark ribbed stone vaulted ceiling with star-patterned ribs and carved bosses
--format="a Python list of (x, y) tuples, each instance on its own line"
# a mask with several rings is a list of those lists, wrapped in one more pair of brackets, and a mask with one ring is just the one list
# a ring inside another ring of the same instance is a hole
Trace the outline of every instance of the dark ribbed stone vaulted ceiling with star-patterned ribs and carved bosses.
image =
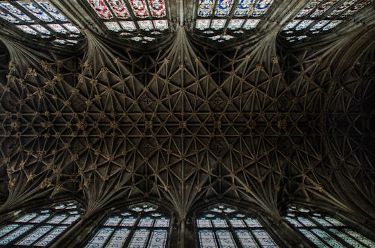
[(1, 22), (0, 210), (71, 196), (88, 213), (153, 199), (182, 219), (215, 201), (375, 216), (371, 1), (338, 28), (290, 38), (310, 1), (275, 0), (229, 40), (234, 8), (205, 33), (198, 1), (166, 1), (167, 31), (126, 37), (89, 4), (51, 3), (80, 29), (76, 43)]

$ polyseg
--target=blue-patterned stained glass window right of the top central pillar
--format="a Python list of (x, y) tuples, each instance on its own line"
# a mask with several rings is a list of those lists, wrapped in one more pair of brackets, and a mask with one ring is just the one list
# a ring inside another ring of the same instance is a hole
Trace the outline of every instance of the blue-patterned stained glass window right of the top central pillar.
[(274, 0), (200, 0), (196, 33), (223, 42), (256, 28)]

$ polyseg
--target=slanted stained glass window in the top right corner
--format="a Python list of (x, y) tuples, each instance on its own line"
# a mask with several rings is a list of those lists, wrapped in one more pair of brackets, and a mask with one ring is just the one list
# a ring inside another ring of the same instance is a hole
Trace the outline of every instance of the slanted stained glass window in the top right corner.
[(373, 0), (313, 0), (283, 28), (289, 42), (307, 40), (347, 22)]

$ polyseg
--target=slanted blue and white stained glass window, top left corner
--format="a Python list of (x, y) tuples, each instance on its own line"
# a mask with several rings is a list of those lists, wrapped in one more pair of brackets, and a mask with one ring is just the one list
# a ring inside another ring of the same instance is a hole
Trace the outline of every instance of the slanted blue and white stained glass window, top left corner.
[[(60, 44), (77, 44), (77, 39), (82, 36), (78, 28), (48, 0), (1, 1), (0, 17), (35, 38), (63, 40)], [(74, 42), (66, 40), (66, 35)]]

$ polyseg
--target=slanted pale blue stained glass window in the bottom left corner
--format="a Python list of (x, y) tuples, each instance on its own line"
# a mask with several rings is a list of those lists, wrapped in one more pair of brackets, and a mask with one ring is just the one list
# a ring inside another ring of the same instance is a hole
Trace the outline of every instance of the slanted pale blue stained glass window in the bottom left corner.
[(25, 213), (0, 226), (0, 245), (46, 247), (80, 216), (74, 201)]

